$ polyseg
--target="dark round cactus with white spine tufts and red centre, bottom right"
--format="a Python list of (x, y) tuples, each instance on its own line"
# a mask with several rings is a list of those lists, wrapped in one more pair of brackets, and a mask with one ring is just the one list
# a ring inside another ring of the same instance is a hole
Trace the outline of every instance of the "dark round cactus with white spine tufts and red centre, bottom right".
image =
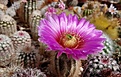
[(84, 77), (96, 77), (104, 69), (111, 69), (114, 72), (120, 72), (117, 62), (108, 55), (93, 56), (89, 59), (88, 65), (84, 72)]

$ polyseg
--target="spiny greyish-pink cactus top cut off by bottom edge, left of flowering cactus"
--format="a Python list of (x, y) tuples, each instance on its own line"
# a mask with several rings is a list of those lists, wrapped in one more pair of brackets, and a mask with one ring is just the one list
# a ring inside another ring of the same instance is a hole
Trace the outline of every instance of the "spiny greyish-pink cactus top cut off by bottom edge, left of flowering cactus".
[(46, 77), (46, 75), (39, 69), (22, 69), (13, 73), (11, 77)]

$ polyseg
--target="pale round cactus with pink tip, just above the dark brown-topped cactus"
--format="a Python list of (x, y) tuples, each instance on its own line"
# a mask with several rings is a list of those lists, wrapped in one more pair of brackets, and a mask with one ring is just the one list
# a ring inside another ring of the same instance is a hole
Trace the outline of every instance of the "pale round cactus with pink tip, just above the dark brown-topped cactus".
[(26, 31), (15, 32), (11, 39), (16, 50), (20, 47), (31, 46), (31, 37)]

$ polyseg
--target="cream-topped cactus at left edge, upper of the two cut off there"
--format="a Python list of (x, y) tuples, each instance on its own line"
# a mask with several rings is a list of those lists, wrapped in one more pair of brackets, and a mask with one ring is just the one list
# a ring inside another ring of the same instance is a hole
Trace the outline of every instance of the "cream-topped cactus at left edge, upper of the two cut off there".
[(16, 31), (16, 21), (9, 15), (2, 16), (0, 19), (0, 33), (11, 36)]

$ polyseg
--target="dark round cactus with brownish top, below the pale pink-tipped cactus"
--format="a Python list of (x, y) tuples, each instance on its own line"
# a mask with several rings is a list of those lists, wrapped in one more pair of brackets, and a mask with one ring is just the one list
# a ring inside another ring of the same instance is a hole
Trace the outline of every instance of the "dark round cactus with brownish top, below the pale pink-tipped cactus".
[(37, 54), (36, 49), (29, 47), (29, 46), (25, 46), (24, 48), (20, 48), (17, 52), (18, 52), (17, 55), (16, 55), (17, 65), (20, 64), (24, 68), (37, 67), (38, 54)]

